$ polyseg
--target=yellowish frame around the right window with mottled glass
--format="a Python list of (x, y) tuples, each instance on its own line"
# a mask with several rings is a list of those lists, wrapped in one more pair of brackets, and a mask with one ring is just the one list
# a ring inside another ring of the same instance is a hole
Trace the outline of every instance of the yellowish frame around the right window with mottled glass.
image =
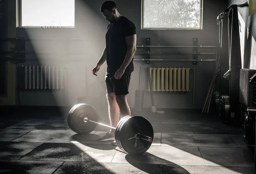
[(203, 29), (203, 0), (200, 0), (200, 26), (199, 27), (144, 27), (144, 1), (141, 0), (141, 29)]

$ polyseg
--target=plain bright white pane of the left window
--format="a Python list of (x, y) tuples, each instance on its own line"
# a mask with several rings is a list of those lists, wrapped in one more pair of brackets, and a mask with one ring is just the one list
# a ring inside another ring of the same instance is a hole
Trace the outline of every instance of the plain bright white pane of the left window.
[(75, 0), (21, 0), (21, 27), (74, 27)]

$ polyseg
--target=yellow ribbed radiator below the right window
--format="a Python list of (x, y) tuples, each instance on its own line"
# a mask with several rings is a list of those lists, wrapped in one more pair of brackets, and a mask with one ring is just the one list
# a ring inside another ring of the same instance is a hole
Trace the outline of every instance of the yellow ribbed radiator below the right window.
[[(190, 68), (150, 68), (153, 92), (189, 92)], [(148, 82), (148, 91), (150, 91)]]

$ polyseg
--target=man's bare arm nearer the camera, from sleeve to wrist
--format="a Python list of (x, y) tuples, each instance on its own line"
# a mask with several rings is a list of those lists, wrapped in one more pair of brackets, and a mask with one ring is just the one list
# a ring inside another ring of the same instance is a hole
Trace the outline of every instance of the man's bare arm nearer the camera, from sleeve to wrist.
[(125, 37), (126, 43), (127, 43), (127, 52), (125, 56), (125, 61), (123, 62), (120, 69), (124, 70), (128, 67), (128, 65), (131, 63), (132, 58), (134, 57), (134, 54), (136, 52), (136, 40), (137, 35), (130, 35)]

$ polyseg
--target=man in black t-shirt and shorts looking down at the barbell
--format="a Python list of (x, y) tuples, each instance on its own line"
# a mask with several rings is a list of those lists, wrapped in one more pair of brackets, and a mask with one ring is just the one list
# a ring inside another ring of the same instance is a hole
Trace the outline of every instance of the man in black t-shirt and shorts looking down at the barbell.
[[(134, 70), (133, 58), (136, 51), (136, 27), (131, 20), (122, 16), (116, 9), (116, 3), (112, 0), (105, 1), (100, 12), (109, 22), (105, 35), (106, 47), (99, 59), (93, 74), (97, 75), (101, 65), (107, 61), (105, 76), (108, 113), (112, 127), (116, 127), (121, 117), (130, 115), (127, 103), (128, 87), (131, 73)], [(99, 140), (114, 139), (114, 130), (110, 130)], [(116, 146), (116, 141), (111, 145)]]

